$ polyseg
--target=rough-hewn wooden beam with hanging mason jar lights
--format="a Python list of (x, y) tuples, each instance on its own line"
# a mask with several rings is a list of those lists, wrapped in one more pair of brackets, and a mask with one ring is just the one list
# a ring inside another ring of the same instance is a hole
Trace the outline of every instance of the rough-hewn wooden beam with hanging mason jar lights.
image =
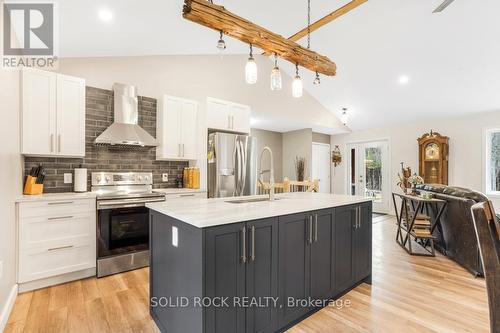
[(326, 56), (239, 17), (223, 6), (214, 5), (207, 0), (185, 0), (182, 16), (216, 31), (223, 31), (224, 34), (252, 44), (269, 54), (277, 54), (280, 58), (313, 72), (327, 76), (336, 74), (337, 66)]

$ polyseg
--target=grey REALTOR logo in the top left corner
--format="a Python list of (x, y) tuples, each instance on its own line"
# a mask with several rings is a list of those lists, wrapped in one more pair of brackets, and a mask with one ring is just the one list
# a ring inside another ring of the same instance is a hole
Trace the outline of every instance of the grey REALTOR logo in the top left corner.
[(3, 4), (4, 68), (54, 68), (54, 3)]

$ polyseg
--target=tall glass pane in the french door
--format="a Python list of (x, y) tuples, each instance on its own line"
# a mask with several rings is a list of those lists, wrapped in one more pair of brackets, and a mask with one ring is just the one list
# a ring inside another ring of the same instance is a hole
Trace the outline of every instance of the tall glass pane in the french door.
[(365, 148), (365, 197), (382, 202), (382, 149)]

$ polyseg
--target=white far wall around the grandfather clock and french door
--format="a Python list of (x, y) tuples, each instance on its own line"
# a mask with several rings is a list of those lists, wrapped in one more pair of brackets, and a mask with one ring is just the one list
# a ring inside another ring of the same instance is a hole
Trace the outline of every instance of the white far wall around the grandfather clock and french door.
[[(346, 143), (388, 138), (391, 148), (392, 190), (398, 191), (396, 183), (397, 173), (401, 169), (400, 163), (405, 162), (413, 172), (418, 173), (417, 138), (432, 129), (450, 138), (449, 184), (484, 191), (482, 141), (483, 130), (487, 127), (500, 127), (500, 110), (334, 135), (331, 145), (340, 146), (343, 161), (336, 168), (332, 168), (332, 189), (334, 193), (345, 193), (348, 158)], [(494, 200), (494, 203), (500, 211), (500, 200)]]

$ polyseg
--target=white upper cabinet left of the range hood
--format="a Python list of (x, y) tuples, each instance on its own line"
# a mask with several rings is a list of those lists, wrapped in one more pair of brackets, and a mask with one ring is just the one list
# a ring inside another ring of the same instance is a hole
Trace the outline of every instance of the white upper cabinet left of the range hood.
[(85, 156), (85, 80), (23, 69), (24, 155)]

